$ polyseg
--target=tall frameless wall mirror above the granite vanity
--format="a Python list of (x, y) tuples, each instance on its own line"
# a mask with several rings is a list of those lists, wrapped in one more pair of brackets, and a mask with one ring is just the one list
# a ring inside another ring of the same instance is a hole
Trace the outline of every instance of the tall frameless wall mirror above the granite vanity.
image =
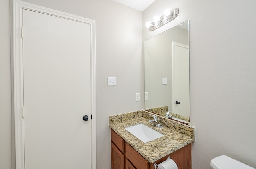
[(189, 21), (146, 40), (144, 64), (145, 110), (188, 124)]

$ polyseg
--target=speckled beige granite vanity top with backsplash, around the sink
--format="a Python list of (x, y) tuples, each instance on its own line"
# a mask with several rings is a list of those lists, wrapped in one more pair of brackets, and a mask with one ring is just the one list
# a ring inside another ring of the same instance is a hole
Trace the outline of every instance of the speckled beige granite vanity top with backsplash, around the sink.
[[(194, 127), (158, 116), (158, 124), (163, 126), (163, 128), (158, 128), (153, 126), (153, 123), (148, 122), (149, 119), (152, 119), (149, 114), (152, 113), (139, 110), (112, 115), (109, 116), (109, 126), (150, 163), (154, 163), (156, 160), (194, 141)], [(140, 123), (162, 133), (164, 136), (144, 143), (125, 129)]]

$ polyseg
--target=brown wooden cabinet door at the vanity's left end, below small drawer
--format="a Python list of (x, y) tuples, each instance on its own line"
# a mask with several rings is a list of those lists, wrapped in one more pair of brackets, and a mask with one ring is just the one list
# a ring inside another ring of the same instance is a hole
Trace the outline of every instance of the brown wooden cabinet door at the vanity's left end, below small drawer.
[(111, 143), (111, 169), (124, 169), (124, 155)]

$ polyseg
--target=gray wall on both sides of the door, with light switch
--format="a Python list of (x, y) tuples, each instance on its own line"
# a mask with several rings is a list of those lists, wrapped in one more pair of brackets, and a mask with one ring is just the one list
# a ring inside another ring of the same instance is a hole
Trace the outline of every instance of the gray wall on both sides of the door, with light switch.
[[(96, 21), (97, 168), (110, 168), (108, 116), (144, 108), (135, 101), (144, 92), (142, 12), (112, 0), (24, 1)], [(0, 169), (11, 169), (9, 0), (1, 0), (0, 9)], [(116, 86), (107, 86), (107, 77), (116, 77)]]

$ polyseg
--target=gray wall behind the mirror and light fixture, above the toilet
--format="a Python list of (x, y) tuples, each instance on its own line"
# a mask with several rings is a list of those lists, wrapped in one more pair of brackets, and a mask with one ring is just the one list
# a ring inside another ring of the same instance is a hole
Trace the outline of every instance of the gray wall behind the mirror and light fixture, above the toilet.
[(143, 24), (165, 8), (179, 16), (143, 40), (190, 20), (190, 119), (196, 127), (192, 168), (210, 169), (210, 160), (228, 155), (256, 167), (255, 0), (156, 0)]

